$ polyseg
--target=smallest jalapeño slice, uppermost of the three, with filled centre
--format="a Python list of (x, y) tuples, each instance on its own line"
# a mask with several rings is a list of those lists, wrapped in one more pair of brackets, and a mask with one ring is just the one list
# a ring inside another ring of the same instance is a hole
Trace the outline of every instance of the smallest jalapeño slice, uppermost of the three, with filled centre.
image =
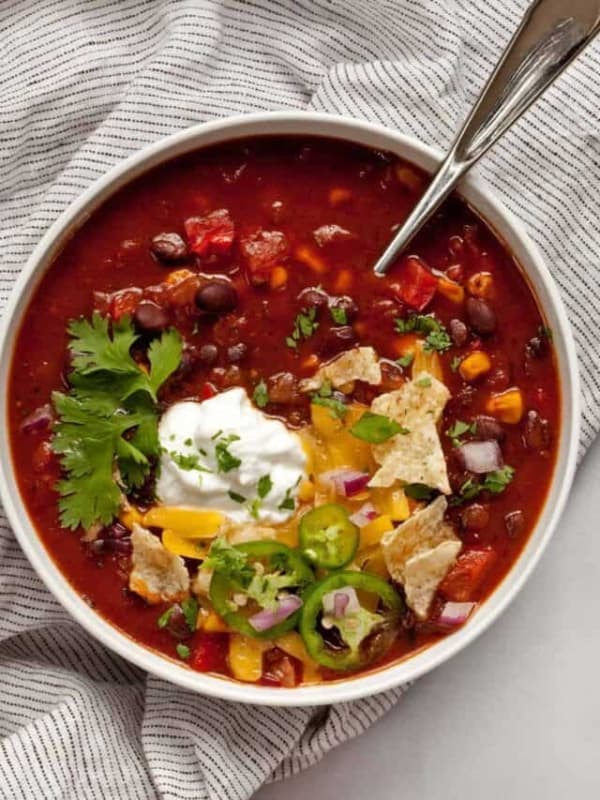
[(349, 564), (360, 537), (348, 511), (337, 503), (326, 503), (304, 514), (298, 534), (304, 557), (324, 569), (339, 569)]

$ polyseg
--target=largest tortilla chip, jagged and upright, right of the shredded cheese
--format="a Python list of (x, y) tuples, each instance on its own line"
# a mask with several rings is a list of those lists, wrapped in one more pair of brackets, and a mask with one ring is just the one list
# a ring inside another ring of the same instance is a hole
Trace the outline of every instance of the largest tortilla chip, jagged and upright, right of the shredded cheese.
[(371, 411), (383, 414), (408, 430), (381, 444), (373, 445), (373, 457), (380, 469), (369, 486), (391, 486), (396, 480), (423, 483), (450, 494), (446, 459), (437, 423), (450, 392), (446, 386), (421, 372), (401, 389), (376, 397)]

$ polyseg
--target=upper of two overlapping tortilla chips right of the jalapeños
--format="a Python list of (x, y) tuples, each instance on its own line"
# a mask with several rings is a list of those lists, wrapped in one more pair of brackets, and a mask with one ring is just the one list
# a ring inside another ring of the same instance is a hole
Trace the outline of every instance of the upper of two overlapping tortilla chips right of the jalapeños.
[(433, 503), (382, 536), (383, 556), (394, 580), (403, 583), (404, 565), (416, 553), (435, 547), (444, 539), (456, 538), (450, 525), (444, 522), (447, 508), (446, 498), (437, 497)]

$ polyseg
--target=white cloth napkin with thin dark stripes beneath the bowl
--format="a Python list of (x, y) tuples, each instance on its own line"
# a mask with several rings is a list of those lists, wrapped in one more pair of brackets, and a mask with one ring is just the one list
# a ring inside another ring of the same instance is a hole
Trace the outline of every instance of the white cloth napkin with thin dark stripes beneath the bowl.
[[(0, 302), (45, 228), (139, 147), (311, 108), (447, 146), (524, 0), (3, 0)], [(481, 165), (567, 303), (600, 428), (600, 43)], [(401, 690), (252, 708), (143, 674), (52, 599), (2, 522), (0, 798), (241, 800), (362, 733)], [(401, 789), (398, 789), (401, 792)]]

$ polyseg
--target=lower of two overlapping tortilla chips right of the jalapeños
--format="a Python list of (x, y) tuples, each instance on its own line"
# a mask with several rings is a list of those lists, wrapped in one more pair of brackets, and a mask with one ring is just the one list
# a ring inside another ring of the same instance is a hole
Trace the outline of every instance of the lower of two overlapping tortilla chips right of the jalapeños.
[(456, 561), (462, 545), (447, 540), (409, 558), (404, 566), (404, 593), (407, 605), (418, 619), (426, 619), (437, 587)]

